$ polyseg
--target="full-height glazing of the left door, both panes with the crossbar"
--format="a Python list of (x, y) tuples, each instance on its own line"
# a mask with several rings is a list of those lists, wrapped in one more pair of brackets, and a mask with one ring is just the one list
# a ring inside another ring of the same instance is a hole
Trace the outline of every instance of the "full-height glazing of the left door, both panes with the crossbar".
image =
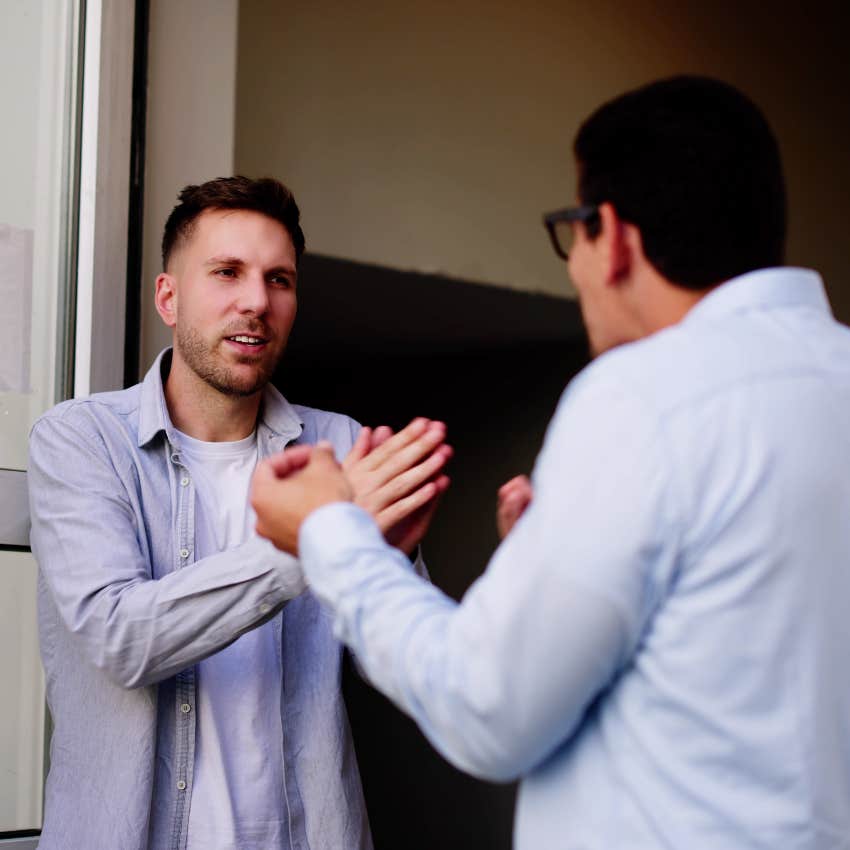
[(0, 10), (0, 839), (42, 823), (37, 571), (31, 554), (14, 551), (27, 526), (16, 470), (26, 468), (33, 420), (64, 396), (70, 365), (82, 1), (2, 0)]

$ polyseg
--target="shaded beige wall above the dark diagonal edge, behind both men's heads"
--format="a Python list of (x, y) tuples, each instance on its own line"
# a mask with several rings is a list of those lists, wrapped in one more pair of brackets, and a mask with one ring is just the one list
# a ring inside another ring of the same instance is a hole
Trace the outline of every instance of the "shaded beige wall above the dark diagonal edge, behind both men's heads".
[(710, 73), (767, 112), (789, 260), (822, 269), (848, 319), (832, 5), (241, 0), (236, 170), (288, 182), (319, 253), (564, 294), (540, 216), (573, 198), (581, 119), (652, 78)]

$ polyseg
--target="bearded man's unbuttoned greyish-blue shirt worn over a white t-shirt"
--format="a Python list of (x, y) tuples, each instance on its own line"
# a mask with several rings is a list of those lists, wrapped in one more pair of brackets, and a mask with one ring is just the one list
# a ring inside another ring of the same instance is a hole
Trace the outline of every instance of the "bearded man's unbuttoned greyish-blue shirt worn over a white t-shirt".
[[(202, 509), (168, 416), (163, 358), (142, 384), (61, 404), (30, 441), (39, 634), (55, 724), (41, 850), (183, 850), (201, 659), (270, 621), (280, 647), (291, 850), (371, 848), (340, 693), (341, 648), (300, 567), (265, 540), (196, 558)], [(359, 426), (269, 387), (266, 456)], [(281, 751), (282, 749), (282, 751)], [(233, 777), (220, 777), (232, 781)]]

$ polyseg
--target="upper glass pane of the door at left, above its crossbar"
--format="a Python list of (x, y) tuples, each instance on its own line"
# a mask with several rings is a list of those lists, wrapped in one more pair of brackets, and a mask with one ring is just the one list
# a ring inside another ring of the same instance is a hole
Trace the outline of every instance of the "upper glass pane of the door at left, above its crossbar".
[(3, 0), (0, 91), (0, 469), (63, 393), (76, 173), (79, 2)]

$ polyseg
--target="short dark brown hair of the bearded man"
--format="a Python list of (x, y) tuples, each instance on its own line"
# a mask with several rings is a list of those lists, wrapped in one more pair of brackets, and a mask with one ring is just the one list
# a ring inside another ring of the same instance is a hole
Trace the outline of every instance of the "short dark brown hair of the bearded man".
[(175, 247), (189, 238), (198, 216), (204, 210), (253, 210), (279, 221), (295, 246), (296, 264), (304, 253), (304, 232), (298, 223), (300, 213), (292, 192), (279, 180), (261, 177), (218, 177), (200, 186), (186, 186), (177, 196), (162, 234), (162, 267)]

